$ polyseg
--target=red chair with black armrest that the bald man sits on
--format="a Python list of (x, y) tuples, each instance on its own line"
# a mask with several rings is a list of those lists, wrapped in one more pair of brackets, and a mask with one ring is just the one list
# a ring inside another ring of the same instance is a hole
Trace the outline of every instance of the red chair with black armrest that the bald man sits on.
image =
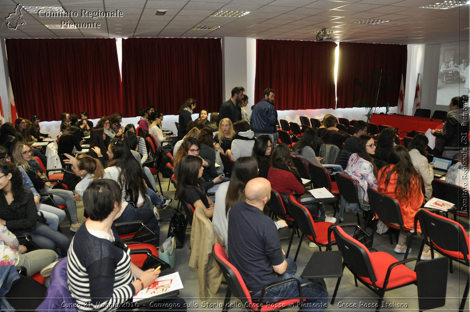
[(302, 286), (300, 285), (300, 282), (295, 278), (289, 278), (287, 280), (278, 281), (266, 285), (261, 291), (259, 301), (263, 300), (266, 290), (273, 288), (277, 285), (289, 283), (292, 281), (297, 281), (299, 293), (299, 296), (297, 298), (280, 300), (276, 304), (258, 304), (257, 302), (253, 301), (253, 299), (251, 299), (250, 291), (247, 289), (245, 282), (243, 281), (242, 275), (240, 274), (240, 272), (238, 272), (235, 266), (228, 261), (227, 254), (225, 253), (225, 250), (222, 245), (220, 245), (219, 243), (215, 243), (212, 246), (212, 255), (214, 256), (215, 261), (219, 265), (220, 270), (222, 271), (222, 274), (224, 275), (225, 281), (227, 281), (228, 285), (222, 312), (227, 311), (228, 303), (230, 302), (230, 296), (232, 295), (232, 293), (235, 295), (235, 297), (242, 301), (243, 307), (245, 307), (245, 309), (250, 312), (277, 311), (282, 309), (283, 307), (289, 307), (290, 304), (297, 305), (297, 303), (305, 301), (305, 299), (302, 299)]

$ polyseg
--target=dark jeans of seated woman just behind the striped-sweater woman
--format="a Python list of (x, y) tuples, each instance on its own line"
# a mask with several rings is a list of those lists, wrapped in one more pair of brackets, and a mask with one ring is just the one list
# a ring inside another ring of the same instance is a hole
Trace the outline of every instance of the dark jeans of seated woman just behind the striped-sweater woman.
[[(150, 230), (152, 230), (155, 234), (160, 234), (160, 222), (155, 217), (153, 213), (153, 207), (150, 203), (144, 203), (144, 205), (140, 208), (135, 208), (130, 203), (127, 204), (122, 214), (113, 221), (113, 224), (120, 223), (120, 222), (129, 222), (129, 221), (137, 221), (141, 220), (143, 224), (145, 224)], [(127, 234), (136, 231), (140, 224), (136, 225), (129, 225), (129, 226), (119, 226), (117, 228), (118, 234)]]

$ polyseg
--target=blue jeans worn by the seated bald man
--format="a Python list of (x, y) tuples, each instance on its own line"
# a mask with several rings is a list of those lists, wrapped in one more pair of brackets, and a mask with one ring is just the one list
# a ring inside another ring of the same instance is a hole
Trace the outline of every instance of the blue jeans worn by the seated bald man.
[[(303, 279), (296, 274), (297, 265), (292, 259), (286, 259), (287, 269), (284, 274), (282, 274), (281, 279), (287, 280), (288, 278), (295, 278), (300, 281), (301, 284), (306, 283), (308, 280)], [(251, 298), (256, 299), (261, 295), (261, 290), (256, 293), (251, 294)], [(302, 287), (302, 296), (307, 300), (304, 303), (304, 311), (322, 311), (328, 305), (328, 291), (321, 286), (321, 284), (316, 283), (310, 286)], [(298, 297), (298, 286), (295, 282), (289, 282), (275, 286), (274, 288), (269, 289), (265, 296), (264, 302), (275, 303), (284, 298), (295, 298)], [(272, 300), (274, 299), (274, 300)]]

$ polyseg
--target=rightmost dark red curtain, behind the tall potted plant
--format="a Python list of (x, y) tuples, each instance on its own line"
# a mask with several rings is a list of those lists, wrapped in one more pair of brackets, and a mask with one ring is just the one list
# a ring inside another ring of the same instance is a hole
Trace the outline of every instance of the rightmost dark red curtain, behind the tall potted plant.
[[(354, 100), (365, 97), (360, 86), (354, 86), (354, 78), (372, 88), (372, 73), (376, 70), (390, 70), (387, 81), (394, 88), (379, 96), (379, 101), (397, 106), (400, 93), (401, 74), (405, 84), (407, 72), (407, 46), (377, 43), (339, 43), (337, 80), (337, 108), (352, 107)], [(370, 94), (366, 100), (369, 101)]]

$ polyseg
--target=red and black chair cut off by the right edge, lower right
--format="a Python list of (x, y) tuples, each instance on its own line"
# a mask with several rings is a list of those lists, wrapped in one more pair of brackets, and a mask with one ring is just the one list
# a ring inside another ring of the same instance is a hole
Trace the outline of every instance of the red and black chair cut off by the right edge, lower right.
[[(417, 221), (419, 221), (423, 233), (423, 242), (418, 255), (421, 255), (424, 244), (426, 244), (431, 247), (431, 257), (434, 257), (433, 250), (435, 250), (449, 258), (451, 273), (452, 260), (470, 266), (470, 237), (460, 223), (426, 209), (421, 209), (416, 214), (415, 228)], [(467, 285), (463, 291), (462, 302), (459, 308), (461, 312), (469, 294), (469, 281), (470, 277), (467, 278)]]

